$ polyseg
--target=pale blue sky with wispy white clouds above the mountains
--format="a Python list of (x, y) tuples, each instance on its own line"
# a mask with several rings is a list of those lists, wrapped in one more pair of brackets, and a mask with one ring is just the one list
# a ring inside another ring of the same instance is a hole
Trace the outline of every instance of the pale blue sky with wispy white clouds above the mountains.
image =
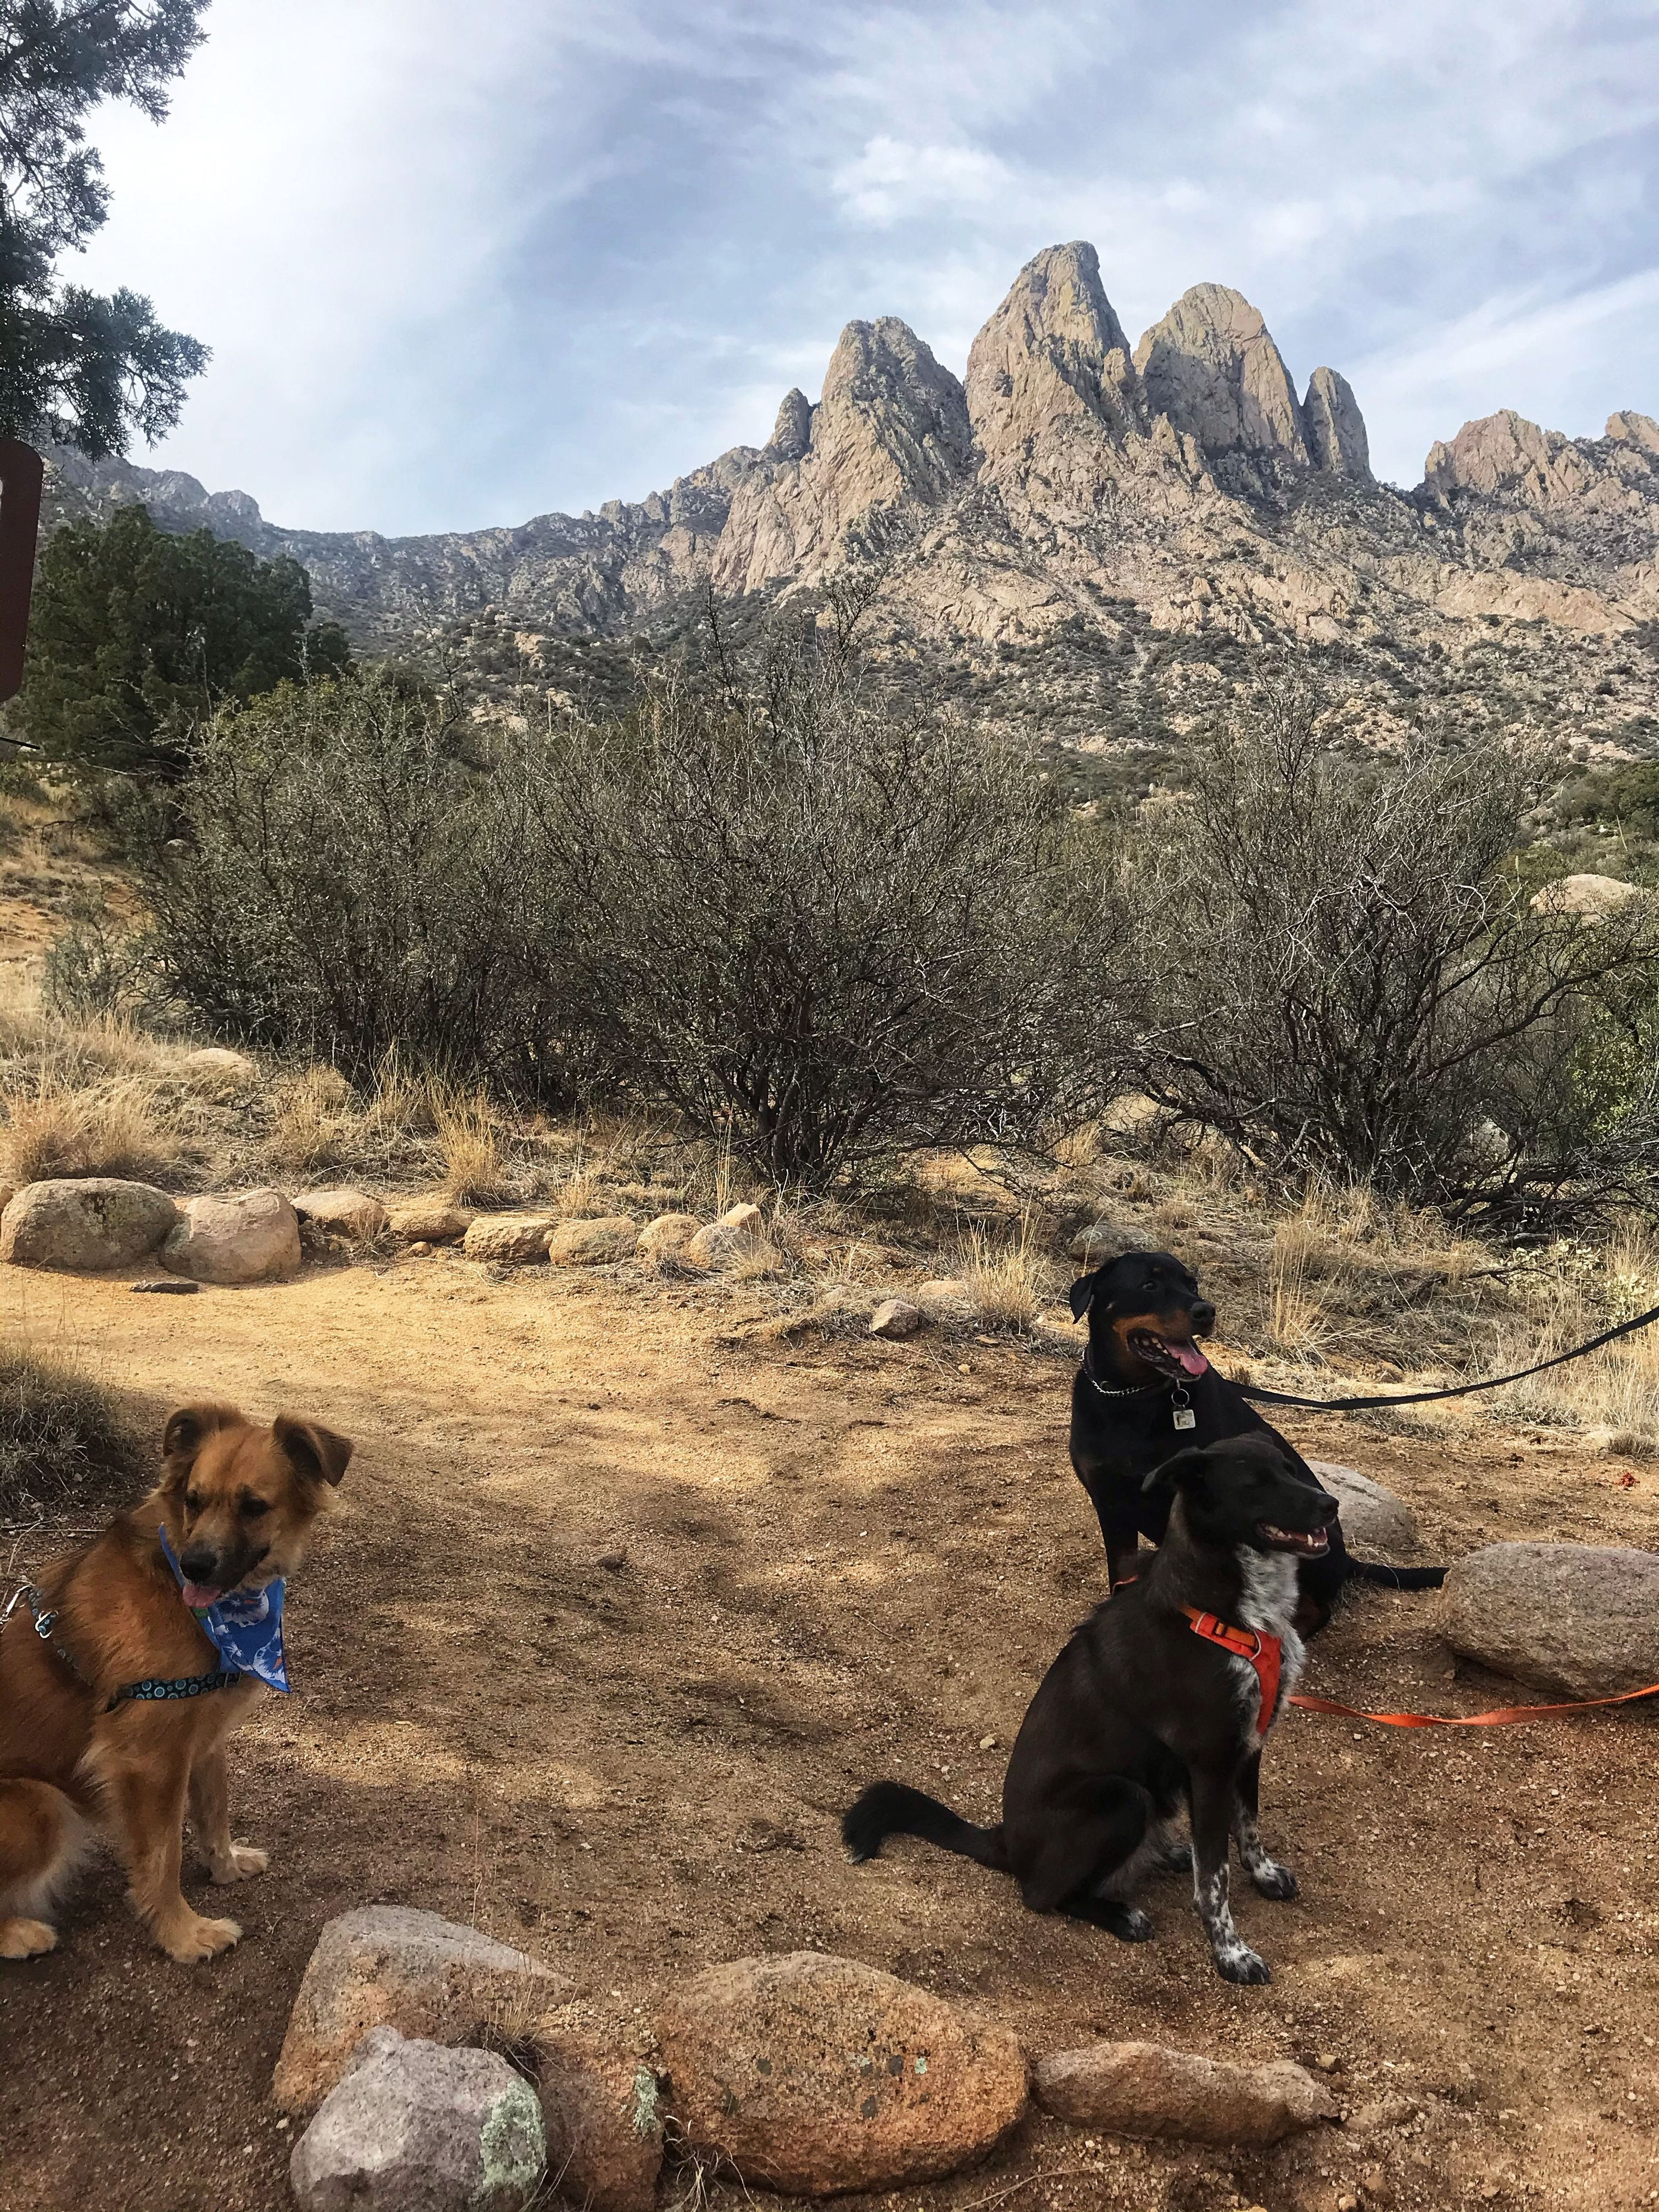
[(849, 316), (953, 369), (1084, 237), (1130, 334), (1237, 285), (1378, 473), (1520, 407), (1659, 414), (1659, 0), (212, 0), (108, 111), (84, 274), (215, 347), (135, 460), (274, 522), (639, 498), (816, 396)]

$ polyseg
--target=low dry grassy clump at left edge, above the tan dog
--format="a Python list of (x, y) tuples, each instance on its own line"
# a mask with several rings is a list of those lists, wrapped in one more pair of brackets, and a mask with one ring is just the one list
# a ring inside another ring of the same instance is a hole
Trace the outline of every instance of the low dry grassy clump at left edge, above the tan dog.
[(106, 1389), (60, 1360), (0, 1347), (0, 1524), (122, 1506), (142, 1469), (142, 1440)]

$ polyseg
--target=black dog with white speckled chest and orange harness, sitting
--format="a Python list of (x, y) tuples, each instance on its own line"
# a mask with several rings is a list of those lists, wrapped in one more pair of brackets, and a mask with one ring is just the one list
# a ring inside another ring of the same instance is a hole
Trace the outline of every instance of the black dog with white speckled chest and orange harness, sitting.
[[(876, 1783), (841, 1834), (856, 1860), (922, 1836), (1013, 1874), (1037, 1913), (1144, 1942), (1133, 1902), (1157, 1867), (1192, 1865), (1217, 1971), (1267, 1982), (1232, 1924), (1228, 1836), (1265, 1898), (1296, 1878), (1256, 1834), (1261, 1745), (1296, 1686), (1296, 1571), (1325, 1553), (1336, 1502), (1272, 1438), (1179, 1451), (1159, 1471), (1172, 1504), (1137, 1582), (1097, 1606), (1048, 1668), (1002, 1783), (1002, 1823), (975, 1827), (905, 1783)], [(1175, 1820), (1190, 1812), (1192, 1847)]]

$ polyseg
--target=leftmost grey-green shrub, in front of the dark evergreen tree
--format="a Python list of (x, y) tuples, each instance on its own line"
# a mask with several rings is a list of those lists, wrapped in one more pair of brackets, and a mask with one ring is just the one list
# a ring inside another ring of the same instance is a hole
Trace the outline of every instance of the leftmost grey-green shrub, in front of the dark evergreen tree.
[(529, 763), (471, 743), (387, 672), (217, 717), (175, 794), (177, 834), (131, 841), (159, 984), (219, 1035), (361, 1084), (400, 1053), (566, 1086)]

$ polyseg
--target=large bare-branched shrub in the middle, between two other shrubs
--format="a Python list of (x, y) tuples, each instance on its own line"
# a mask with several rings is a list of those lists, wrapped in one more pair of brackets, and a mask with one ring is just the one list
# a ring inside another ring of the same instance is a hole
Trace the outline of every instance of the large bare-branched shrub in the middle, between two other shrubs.
[(867, 690), (834, 628), (555, 734), (542, 849), (608, 1093), (772, 1183), (1040, 1141), (1102, 1093), (1126, 967), (1099, 832), (1026, 754)]

